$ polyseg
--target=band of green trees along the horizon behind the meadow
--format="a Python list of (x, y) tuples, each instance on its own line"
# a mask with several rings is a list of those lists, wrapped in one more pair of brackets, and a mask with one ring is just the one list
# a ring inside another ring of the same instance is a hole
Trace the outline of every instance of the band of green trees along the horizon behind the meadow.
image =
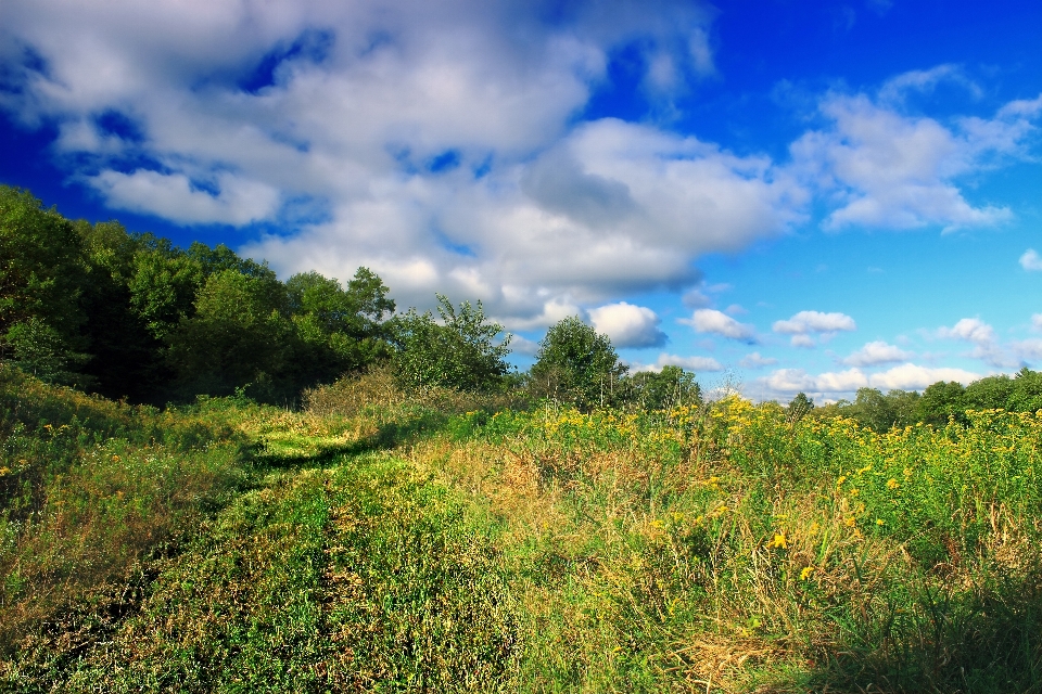
[[(695, 374), (678, 367), (630, 373), (579, 317), (551, 326), (535, 364), (518, 373), (510, 335), (481, 301), (436, 295), (436, 316), (399, 312), (389, 292), (368, 268), (346, 285), (318, 272), (280, 281), (228, 246), (180, 248), (116, 221), (69, 220), (0, 185), (0, 358), (47, 382), (156, 404), (237, 390), (287, 403), (391, 364), (405, 388), (523, 389), (583, 410), (702, 400)], [(1042, 374), (939, 382), (922, 394), (862, 388), (819, 408), (801, 393), (788, 404), (792, 417), (842, 414), (876, 430), (992, 408), (1042, 409)]]

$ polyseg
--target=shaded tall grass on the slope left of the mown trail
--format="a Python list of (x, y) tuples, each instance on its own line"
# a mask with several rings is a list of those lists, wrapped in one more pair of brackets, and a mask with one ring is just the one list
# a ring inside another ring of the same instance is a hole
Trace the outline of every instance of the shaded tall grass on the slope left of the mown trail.
[(0, 408), (0, 658), (55, 640), (75, 653), (134, 600), (142, 562), (246, 483), (214, 408), (161, 413), (4, 365)]

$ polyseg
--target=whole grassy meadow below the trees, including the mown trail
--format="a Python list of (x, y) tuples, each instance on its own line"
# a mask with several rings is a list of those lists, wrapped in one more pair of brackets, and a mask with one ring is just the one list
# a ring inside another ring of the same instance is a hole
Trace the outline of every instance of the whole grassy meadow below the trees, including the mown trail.
[(0, 368), (0, 690), (1042, 692), (1042, 416)]

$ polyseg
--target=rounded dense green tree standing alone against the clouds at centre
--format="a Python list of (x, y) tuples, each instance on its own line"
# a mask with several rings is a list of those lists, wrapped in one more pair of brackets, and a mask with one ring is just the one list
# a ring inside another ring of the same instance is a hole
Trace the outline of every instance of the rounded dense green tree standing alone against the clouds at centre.
[(583, 410), (613, 404), (619, 380), (628, 371), (608, 336), (598, 334), (577, 316), (550, 327), (535, 358), (530, 371), (531, 391)]

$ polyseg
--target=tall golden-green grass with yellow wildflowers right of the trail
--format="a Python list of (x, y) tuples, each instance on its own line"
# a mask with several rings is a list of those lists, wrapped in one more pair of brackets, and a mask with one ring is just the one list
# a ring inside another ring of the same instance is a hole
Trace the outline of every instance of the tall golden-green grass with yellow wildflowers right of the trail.
[(1042, 417), (969, 419), (551, 407), (414, 459), (499, 529), (532, 691), (1037, 691)]

